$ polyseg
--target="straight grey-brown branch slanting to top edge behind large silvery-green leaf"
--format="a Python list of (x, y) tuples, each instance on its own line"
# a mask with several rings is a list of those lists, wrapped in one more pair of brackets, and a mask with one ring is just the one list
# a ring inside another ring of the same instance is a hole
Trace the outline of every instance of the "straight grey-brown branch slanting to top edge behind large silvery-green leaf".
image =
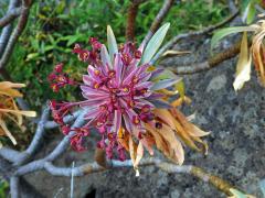
[(141, 47), (145, 48), (146, 44), (149, 42), (149, 40), (151, 38), (151, 36), (155, 34), (155, 32), (158, 30), (158, 28), (160, 26), (162, 20), (165, 19), (165, 16), (167, 15), (167, 13), (169, 12), (170, 8), (173, 4), (173, 0), (165, 0), (163, 6), (161, 8), (161, 10), (158, 12), (156, 19), (153, 20), (150, 30), (148, 31), (146, 37), (144, 38), (142, 43), (141, 43)]

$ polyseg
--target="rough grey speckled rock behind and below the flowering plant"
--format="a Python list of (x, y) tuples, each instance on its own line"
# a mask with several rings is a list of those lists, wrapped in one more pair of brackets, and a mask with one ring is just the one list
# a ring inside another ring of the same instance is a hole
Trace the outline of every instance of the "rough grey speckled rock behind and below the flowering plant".
[[(235, 40), (236, 37), (232, 38), (233, 42)], [(219, 50), (230, 45), (231, 42), (223, 41)], [(184, 40), (176, 45), (176, 50), (192, 53), (169, 58), (161, 65), (176, 66), (205, 61), (210, 55), (210, 36)], [(211, 131), (205, 138), (210, 147), (209, 155), (203, 156), (187, 147), (184, 164), (204, 168), (262, 198), (258, 183), (265, 178), (265, 91), (253, 72), (252, 79), (235, 92), (235, 65), (236, 58), (229, 59), (209, 72), (183, 76), (187, 96), (192, 98), (192, 105), (182, 107), (182, 111), (187, 116), (195, 112), (193, 122), (205, 131)], [(52, 145), (46, 145), (45, 152), (54, 147), (61, 138), (53, 140)], [(95, 146), (93, 142), (91, 144), (92, 147)], [(163, 158), (159, 153), (156, 155)], [(93, 161), (93, 150), (83, 154), (70, 150), (57, 165), (70, 167), (73, 161), (76, 165)], [(46, 197), (63, 198), (70, 194), (70, 178), (52, 177), (45, 172), (39, 172), (26, 176), (26, 179)], [(75, 197), (221, 198), (225, 195), (190, 175), (166, 174), (155, 167), (142, 167), (138, 178), (132, 168), (75, 178)]]

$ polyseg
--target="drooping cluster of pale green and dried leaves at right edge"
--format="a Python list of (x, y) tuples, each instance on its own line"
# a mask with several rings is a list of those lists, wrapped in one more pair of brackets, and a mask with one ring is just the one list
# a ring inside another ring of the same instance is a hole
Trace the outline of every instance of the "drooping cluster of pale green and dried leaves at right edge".
[[(218, 31), (212, 37), (212, 47), (224, 36), (233, 33), (244, 32), (241, 45), (241, 54), (236, 65), (236, 77), (234, 80), (234, 89), (239, 90), (244, 82), (251, 78), (251, 63), (255, 65), (261, 85), (265, 87), (265, 20), (259, 20), (255, 24), (248, 26), (225, 28)], [(248, 48), (246, 32), (253, 33), (252, 46)], [(251, 51), (251, 53), (248, 52)]]

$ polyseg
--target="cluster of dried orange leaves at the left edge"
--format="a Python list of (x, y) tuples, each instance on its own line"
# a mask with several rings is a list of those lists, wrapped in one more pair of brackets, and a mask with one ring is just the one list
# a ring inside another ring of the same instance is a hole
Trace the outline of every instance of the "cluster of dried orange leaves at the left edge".
[(12, 84), (10, 81), (0, 82), (0, 136), (7, 135), (13, 144), (17, 144), (17, 141), (8, 130), (7, 121), (13, 121), (18, 127), (21, 127), (22, 116), (35, 117), (35, 111), (22, 111), (15, 105), (14, 98), (22, 97), (22, 94), (15, 88), (24, 86), (24, 84)]

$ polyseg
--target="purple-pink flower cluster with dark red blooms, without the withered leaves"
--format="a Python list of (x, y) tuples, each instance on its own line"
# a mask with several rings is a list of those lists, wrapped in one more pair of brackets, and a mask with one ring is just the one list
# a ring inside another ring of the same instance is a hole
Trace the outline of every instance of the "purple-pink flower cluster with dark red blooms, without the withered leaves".
[[(89, 42), (92, 51), (83, 50), (78, 44), (73, 50), (82, 62), (89, 63), (87, 75), (83, 75), (81, 85), (85, 100), (63, 103), (52, 101), (53, 118), (64, 134), (75, 131), (71, 145), (76, 151), (85, 148), (83, 139), (94, 128), (102, 135), (98, 147), (105, 148), (109, 158), (116, 148), (119, 158), (125, 160), (124, 147), (117, 141), (118, 135), (126, 132), (141, 139), (146, 132), (144, 123), (155, 118), (151, 112), (155, 106), (149, 101), (157, 97), (157, 94), (150, 90), (153, 85), (149, 81), (152, 74), (148, 72), (148, 64), (139, 65), (141, 51), (137, 50), (134, 43), (121, 45), (110, 62), (104, 54), (106, 48), (103, 44), (96, 38), (91, 38)], [(56, 72), (61, 74), (62, 69)], [(60, 82), (55, 85), (60, 87)], [(75, 106), (88, 109), (85, 114), (87, 123), (82, 129), (70, 129), (63, 122), (63, 118), (71, 113)]]

